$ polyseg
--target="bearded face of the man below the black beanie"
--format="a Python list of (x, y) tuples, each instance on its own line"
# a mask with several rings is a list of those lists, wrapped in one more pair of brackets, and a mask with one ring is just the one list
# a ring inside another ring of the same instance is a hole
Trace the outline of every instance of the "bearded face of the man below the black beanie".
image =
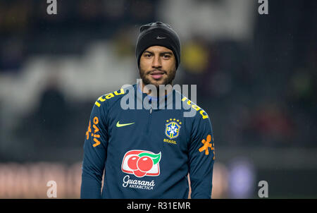
[(173, 51), (161, 46), (146, 49), (139, 59), (139, 75), (144, 85), (172, 85), (176, 74)]

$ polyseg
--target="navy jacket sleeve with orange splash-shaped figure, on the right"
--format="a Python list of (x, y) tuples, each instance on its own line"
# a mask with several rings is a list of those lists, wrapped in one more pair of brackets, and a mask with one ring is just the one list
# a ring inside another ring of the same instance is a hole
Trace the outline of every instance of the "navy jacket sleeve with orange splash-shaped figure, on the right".
[(215, 150), (213, 130), (208, 116), (194, 117), (189, 145), (189, 178), (193, 199), (210, 199)]

